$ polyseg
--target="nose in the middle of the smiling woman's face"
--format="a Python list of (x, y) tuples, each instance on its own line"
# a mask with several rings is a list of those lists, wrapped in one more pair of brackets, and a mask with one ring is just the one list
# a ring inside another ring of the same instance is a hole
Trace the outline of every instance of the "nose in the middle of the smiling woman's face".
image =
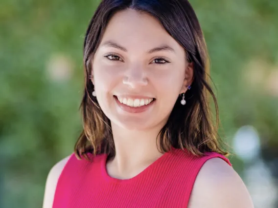
[(130, 67), (127, 69), (122, 82), (132, 88), (146, 86), (148, 84), (143, 67)]

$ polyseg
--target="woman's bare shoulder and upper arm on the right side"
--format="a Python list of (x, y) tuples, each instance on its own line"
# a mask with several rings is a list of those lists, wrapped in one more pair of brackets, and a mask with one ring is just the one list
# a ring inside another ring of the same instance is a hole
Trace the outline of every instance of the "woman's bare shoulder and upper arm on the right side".
[(221, 158), (211, 158), (200, 169), (190, 196), (188, 208), (200, 207), (254, 208), (254, 205), (234, 169)]

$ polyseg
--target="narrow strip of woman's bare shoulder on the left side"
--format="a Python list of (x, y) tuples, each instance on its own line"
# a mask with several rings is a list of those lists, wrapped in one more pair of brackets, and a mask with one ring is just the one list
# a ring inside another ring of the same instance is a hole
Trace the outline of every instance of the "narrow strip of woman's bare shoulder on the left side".
[(46, 188), (45, 188), (43, 208), (52, 208), (58, 179), (59, 179), (64, 167), (66, 166), (68, 160), (70, 159), (70, 156), (71, 155), (69, 155), (68, 157), (59, 161), (57, 164), (55, 164), (50, 169), (50, 171), (47, 175), (47, 179), (46, 179)]

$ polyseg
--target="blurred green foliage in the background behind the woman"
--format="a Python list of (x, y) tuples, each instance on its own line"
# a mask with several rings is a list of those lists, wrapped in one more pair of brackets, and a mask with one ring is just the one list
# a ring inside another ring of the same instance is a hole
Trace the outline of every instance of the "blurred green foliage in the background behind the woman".
[[(225, 137), (254, 125), (278, 158), (278, 1), (191, 0)], [(84, 34), (99, 0), (1, 0), (0, 208), (42, 206), (51, 166), (81, 130)], [(242, 162), (231, 158), (236, 170)]]

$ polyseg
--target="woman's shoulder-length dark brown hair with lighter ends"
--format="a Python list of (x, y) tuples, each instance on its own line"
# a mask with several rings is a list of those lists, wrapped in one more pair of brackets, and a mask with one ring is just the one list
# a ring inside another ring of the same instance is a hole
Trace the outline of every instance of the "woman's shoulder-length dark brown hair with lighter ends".
[[(90, 21), (84, 41), (85, 90), (80, 109), (83, 117), (83, 131), (75, 144), (77, 158), (88, 153), (115, 156), (111, 122), (92, 96), (92, 59), (101, 42), (109, 20), (118, 11), (133, 9), (146, 12), (158, 19), (164, 29), (184, 47), (186, 59), (193, 62), (194, 80), (191, 89), (185, 93), (186, 105), (177, 99), (166, 124), (157, 139), (162, 153), (171, 147), (187, 149), (194, 155), (217, 152), (227, 156), (223, 142), (218, 135), (219, 113), (216, 97), (209, 85), (209, 57), (196, 14), (187, 0), (102, 0)], [(209, 100), (215, 105), (213, 118)]]

